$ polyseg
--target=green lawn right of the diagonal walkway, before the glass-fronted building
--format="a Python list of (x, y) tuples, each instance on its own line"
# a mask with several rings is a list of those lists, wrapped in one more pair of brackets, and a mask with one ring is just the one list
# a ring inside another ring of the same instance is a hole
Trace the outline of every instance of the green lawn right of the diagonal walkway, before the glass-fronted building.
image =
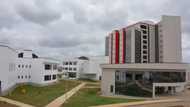
[(100, 89), (98, 88), (83, 88), (64, 103), (62, 107), (89, 107), (95, 105), (140, 101), (134, 99), (101, 97), (99, 93)]

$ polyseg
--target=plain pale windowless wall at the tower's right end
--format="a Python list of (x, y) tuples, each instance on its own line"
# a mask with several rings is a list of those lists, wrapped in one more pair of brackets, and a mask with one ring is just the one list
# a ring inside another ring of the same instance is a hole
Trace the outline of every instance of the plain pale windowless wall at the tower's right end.
[(179, 16), (162, 16), (159, 26), (163, 41), (163, 62), (181, 62), (181, 21)]

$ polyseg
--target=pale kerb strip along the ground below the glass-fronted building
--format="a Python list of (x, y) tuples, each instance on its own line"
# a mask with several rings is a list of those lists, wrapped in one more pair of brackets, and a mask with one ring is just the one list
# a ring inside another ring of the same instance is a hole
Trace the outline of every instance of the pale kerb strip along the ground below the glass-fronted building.
[(181, 101), (182, 101), (181, 99), (166, 99), (166, 100), (151, 100), (151, 101), (139, 101), (131, 103), (109, 104), (109, 105), (100, 105), (100, 106), (91, 106), (91, 107), (127, 107), (127, 106), (147, 105), (155, 103), (181, 102)]

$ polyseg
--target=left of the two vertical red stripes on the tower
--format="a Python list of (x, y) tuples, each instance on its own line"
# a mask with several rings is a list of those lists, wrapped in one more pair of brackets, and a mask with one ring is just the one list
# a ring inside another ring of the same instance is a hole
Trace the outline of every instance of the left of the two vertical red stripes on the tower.
[(119, 63), (119, 32), (115, 31), (115, 64)]

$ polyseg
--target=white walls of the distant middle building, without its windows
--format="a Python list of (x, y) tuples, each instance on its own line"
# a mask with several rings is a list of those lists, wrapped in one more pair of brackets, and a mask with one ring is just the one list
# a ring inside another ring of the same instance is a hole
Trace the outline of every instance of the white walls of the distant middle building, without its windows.
[(63, 59), (63, 62), (77, 62), (77, 65), (63, 65), (63, 68), (71, 67), (77, 68), (76, 71), (71, 70), (63, 70), (63, 72), (76, 72), (76, 78), (86, 78), (99, 80), (99, 77), (102, 75), (102, 70), (100, 68), (100, 64), (109, 63), (109, 56), (94, 56), (88, 57), (89, 60), (80, 60), (78, 58), (66, 58)]

